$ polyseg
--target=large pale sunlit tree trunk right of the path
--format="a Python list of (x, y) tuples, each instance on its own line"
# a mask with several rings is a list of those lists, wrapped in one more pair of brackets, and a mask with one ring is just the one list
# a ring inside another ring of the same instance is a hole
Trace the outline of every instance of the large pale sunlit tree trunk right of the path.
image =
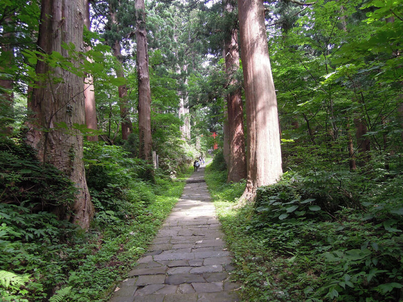
[(262, 0), (238, 0), (241, 57), (246, 95), (247, 182), (244, 196), (280, 178), (277, 99), (268, 57)]

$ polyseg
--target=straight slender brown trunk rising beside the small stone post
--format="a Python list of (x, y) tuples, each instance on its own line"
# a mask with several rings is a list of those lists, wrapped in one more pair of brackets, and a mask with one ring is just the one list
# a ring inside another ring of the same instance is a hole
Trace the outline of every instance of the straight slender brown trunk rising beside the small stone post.
[(139, 157), (151, 161), (151, 91), (144, 0), (136, 0), (136, 43), (139, 81)]

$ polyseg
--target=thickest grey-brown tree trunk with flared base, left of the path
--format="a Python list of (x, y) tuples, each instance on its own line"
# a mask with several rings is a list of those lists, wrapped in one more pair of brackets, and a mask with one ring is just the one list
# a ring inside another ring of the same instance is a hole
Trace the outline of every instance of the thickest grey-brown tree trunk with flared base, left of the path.
[[(46, 54), (57, 51), (64, 57), (69, 53), (62, 43), (82, 48), (84, 14), (83, 0), (42, 0), (38, 47)], [(74, 123), (85, 123), (83, 78), (42, 61), (38, 61), (36, 73), (48, 75), (50, 80), (36, 83), (40, 88), (33, 91), (34, 122), (29, 125), (27, 142), (37, 150), (42, 163), (53, 164), (75, 183), (78, 193), (72, 220), (88, 229), (94, 207), (85, 177), (83, 136), (71, 129)], [(63, 82), (54, 82), (59, 79)], [(70, 131), (55, 128), (57, 123), (65, 123)], [(62, 215), (60, 207), (57, 212)]]

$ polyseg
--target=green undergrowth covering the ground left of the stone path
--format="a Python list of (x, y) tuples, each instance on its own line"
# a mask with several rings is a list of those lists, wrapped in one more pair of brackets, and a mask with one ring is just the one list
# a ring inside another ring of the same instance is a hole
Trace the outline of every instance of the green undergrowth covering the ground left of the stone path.
[(98, 143), (86, 145), (85, 163), (96, 208), (88, 232), (52, 212), (62, 207), (69, 213), (71, 182), (39, 164), (21, 140), (1, 141), (0, 300), (108, 300), (146, 251), (192, 170), (175, 180), (157, 171), (153, 182), (146, 181), (147, 165), (121, 147)]

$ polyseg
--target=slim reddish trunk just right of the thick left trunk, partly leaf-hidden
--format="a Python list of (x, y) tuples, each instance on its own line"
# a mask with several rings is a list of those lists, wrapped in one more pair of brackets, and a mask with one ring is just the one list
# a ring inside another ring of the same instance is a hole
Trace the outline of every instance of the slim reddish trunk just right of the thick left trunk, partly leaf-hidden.
[[(84, 25), (88, 30), (91, 30), (91, 20), (90, 20), (90, 2), (89, 0), (84, 0), (85, 18)], [(86, 51), (91, 50), (91, 46), (86, 47)], [(87, 57), (87, 60), (92, 63), (92, 60)], [(95, 92), (93, 84), (92, 74), (87, 74), (84, 80), (84, 99), (85, 99), (85, 122), (88, 129), (98, 129), (97, 125), (97, 110), (95, 106)], [(88, 140), (98, 141), (98, 135), (87, 136)]]

